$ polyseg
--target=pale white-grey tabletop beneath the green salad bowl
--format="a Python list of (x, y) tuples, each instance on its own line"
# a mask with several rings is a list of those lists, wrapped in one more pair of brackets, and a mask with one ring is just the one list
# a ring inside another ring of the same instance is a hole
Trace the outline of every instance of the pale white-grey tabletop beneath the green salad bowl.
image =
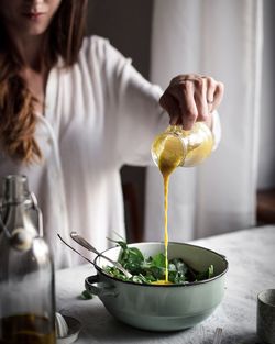
[(94, 275), (90, 265), (56, 274), (57, 310), (82, 323), (78, 344), (147, 343), (210, 344), (217, 326), (223, 329), (222, 344), (255, 344), (256, 296), (275, 288), (275, 225), (212, 236), (193, 242), (227, 256), (229, 271), (222, 303), (215, 313), (193, 329), (173, 333), (153, 333), (118, 322), (95, 297), (79, 298), (84, 280)]

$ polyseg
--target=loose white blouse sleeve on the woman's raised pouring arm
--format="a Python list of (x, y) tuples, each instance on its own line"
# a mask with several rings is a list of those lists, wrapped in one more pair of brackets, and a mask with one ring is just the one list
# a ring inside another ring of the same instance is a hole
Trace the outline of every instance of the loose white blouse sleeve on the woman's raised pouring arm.
[(151, 145), (157, 133), (168, 125), (168, 114), (158, 100), (162, 89), (150, 84), (106, 41), (108, 116), (112, 119), (114, 155), (122, 166), (153, 164)]

